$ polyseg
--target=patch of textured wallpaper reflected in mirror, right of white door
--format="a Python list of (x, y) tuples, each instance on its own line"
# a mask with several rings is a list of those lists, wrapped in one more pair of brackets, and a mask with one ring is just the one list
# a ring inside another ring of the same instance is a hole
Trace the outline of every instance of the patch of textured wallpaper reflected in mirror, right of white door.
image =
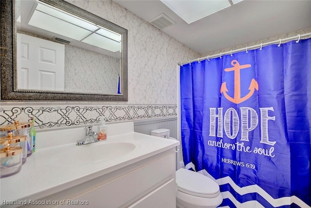
[(121, 60), (65, 45), (65, 91), (118, 93)]

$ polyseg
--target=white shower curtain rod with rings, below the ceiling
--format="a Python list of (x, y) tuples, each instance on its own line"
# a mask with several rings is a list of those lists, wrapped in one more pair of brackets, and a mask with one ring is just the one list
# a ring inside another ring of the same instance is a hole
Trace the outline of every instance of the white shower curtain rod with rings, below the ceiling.
[(300, 38), (306, 37), (306, 36), (311, 36), (311, 33), (306, 33), (306, 34), (303, 34), (303, 35), (297, 35), (297, 36), (293, 36), (291, 38), (278, 39), (278, 40), (271, 41), (271, 42), (266, 42), (266, 43), (260, 43), (258, 45), (253, 45), (253, 46), (249, 46), (249, 47), (246, 46), (245, 48), (231, 50), (231, 51), (227, 51), (227, 52), (224, 52), (224, 53), (219, 53), (219, 54), (215, 54), (215, 55), (212, 55), (212, 56), (197, 58), (197, 59), (193, 59), (193, 60), (189, 60), (189, 61), (185, 61), (185, 62), (178, 62), (177, 64), (178, 65), (183, 65), (183, 64), (194, 62), (194, 61), (201, 61), (201, 60), (205, 60), (205, 59), (209, 59), (209, 58), (221, 57), (223, 55), (228, 55), (228, 54), (232, 54), (232, 53), (236, 53), (236, 52), (240, 52), (240, 51), (247, 51), (247, 50), (254, 49), (254, 48), (262, 48), (262, 46), (271, 45), (271, 44), (274, 44), (274, 43), (281, 44), (281, 42), (288, 41), (288, 40), (297, 39), (296, 42), (298, 43)]

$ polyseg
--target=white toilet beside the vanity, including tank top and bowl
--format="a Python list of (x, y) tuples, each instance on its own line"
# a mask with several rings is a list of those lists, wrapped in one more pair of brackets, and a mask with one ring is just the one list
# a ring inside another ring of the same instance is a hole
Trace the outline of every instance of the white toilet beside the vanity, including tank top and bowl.
[[(151, 135), (175, 139), (170, 137), (168, 129), (153, 130)], [(200, 173), (179, 169), (176, 171), (176, 184), (177, 208), (216, 208), (223, 201), (218, 184)]]

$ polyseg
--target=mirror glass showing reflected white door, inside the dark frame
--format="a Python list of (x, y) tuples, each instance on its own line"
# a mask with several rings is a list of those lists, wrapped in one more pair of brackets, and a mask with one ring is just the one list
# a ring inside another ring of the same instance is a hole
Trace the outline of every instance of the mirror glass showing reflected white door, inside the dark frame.
[(121, 94), (121, 34), (39, 0), (16, 5), (17, 89)]

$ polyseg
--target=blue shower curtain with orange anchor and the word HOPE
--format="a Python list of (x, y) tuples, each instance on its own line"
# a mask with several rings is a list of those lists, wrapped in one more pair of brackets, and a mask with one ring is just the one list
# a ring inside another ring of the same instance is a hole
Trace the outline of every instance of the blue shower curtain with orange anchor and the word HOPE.
[(186, 168), (230, 208), (311, 206), (311, 38), (180, 67)]

